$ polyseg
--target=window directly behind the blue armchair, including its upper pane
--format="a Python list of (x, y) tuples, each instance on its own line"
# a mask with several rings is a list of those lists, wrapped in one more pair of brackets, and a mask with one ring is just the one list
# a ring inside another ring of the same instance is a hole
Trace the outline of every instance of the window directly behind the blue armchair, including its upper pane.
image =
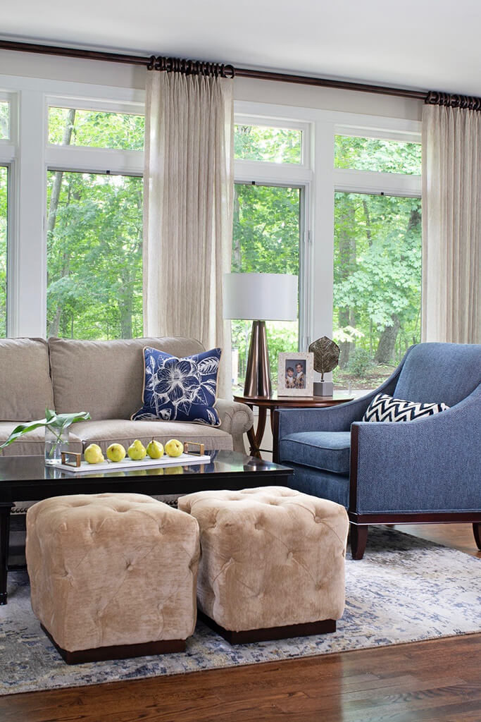
[[(333, 379), (366, 391), (420, 341), (420, 187), (419, 178), (403, 180), (420, 173), (420, 145), (335, 136), (335, 164), (392, 173), (376, 181), (358, 170), (354, 181), (346, 176), (358, 192), (335, 193), (332, 327), (341, 355)], [(383, 183), (385, 192), (367, 190)]]

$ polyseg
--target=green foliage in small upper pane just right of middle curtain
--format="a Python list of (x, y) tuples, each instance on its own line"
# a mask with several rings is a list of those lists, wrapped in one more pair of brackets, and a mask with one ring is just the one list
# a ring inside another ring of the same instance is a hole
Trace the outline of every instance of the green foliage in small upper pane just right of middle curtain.
[(299, 164), (302, 162), (302, 131), (238, 123), (234, 126), (234, 157)]

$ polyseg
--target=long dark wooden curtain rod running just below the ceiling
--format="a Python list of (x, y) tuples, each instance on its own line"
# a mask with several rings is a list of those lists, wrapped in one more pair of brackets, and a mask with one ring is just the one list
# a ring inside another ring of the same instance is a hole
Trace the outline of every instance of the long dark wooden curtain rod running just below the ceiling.
[[(150, 56), (143, 58), (138, 55), (123, 55), (121, 53), (105, 53), (103, 51), (81, 50), (79, 48), (62, 48), (56, 45), (38, 45), (35, 43), (17, 43), (13, 40), (0, 40), (0, 49), (21, 51), (22, 53), (42, 53), (44, 55), (57, 55), (69, 58), (83, 58), (84, 60), (101, 60), (109, 63), (124, 63), (128, 65), (149, 66), (154, 61), (162, 63), (162, 58)], [(174, 58), (164, 58), (164, 60), (173, 61)], [(200, 66), (217, 65), (202, 64)], [(220, 67), (220, 65), (219, 65)], [(258, 80), (275, 80), (278, 82), (297, 83), (303, 85), (314, 85), (317, 87), (330, 87), (338, 90), (356, 90), (359, 92), (374, 92), (379, 95), (395, 95), (397, 97), (408, 97), (414, 100), (426, 100), (427, 92), (418, 90), (405, 90), (403, 88), (384, 87), (382, 85), (368, 85), (363, 83), (346, 82), (341, 80), (327, 80), (324, 78), (313, 78), (304, 75), (290, 75), (283, 73), (273, 73), (265, 70), (250, 70), (246, 68), (236, 68), (234, 73), (230, 71), (231, 66), (226, 65), (229, 69), (229, 77), (235, 74), (238, 78), (254, 78)]]

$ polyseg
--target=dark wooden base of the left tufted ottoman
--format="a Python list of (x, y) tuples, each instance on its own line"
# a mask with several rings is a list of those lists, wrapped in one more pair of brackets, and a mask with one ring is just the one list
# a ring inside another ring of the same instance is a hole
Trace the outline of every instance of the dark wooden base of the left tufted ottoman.
[(40, 626), (67, 664), (103, 662), (109, 659), (148, 657), (157, 654), (171, 654), (185, 651), (185, 639), (169, 639), (159, 640), (158, 642), (145, 642), (144, 644), (124, 644), (114, 647), (97, 647), (94, 649), (79, 649), (76, 652), (69, 652), (59, 647), (50, 632), (48, 632), (43, 625)]

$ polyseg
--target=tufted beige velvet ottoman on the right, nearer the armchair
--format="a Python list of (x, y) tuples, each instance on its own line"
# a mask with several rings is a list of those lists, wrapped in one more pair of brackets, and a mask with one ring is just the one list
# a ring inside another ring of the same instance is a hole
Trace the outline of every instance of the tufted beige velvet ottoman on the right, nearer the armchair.
[(231, 644), (334, 632), (343, 614), (348, 515), (285, 487), (179, 499), (200, 526), (201, 619)]

